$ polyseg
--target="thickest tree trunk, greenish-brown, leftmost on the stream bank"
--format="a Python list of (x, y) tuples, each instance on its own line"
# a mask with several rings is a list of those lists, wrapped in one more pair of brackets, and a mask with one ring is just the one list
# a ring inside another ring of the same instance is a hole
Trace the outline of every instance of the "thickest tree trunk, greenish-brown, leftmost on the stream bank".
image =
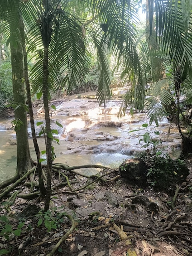
[[(19, 19), (19, 13), (18, 13)], [(10, 37), (14, 37), (14, 31), (10, 27)], [(23, 125), (16, 130), (17, 140), (17, 169), (18, 177), (23, 176), (31, 168), (31, 158), (29, 152), (27, 115), (24, 108), (25, 105), (25, 89), (24, 89), (24, 66), (22, 44), (19, 39), (10, 42), (11, 67), (14, 103), (18, 105), (15, 108), (15, 119), (22, 121)]]

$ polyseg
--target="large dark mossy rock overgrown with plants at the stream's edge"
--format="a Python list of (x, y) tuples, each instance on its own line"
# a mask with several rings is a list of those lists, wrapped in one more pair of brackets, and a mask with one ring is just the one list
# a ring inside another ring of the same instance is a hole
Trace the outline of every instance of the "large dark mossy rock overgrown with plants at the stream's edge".
[(140, 187), (169, 188), (172, 184), (182, 183), (189, 175), (189, 169), (182, 160), (168, 156), (128, 159), (120, 164), (119, 169), (123, 179)]

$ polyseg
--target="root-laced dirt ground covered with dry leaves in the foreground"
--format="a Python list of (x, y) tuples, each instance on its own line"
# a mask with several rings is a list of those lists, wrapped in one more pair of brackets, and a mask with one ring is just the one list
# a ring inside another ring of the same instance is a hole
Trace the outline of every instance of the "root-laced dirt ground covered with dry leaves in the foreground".
[[(1, 205), (0, 216), (10, 209), (8, 225), (11, 228), (0, 222), (0, 252), (9, 250), (9, 253), (0, 255), (51, 255), (48, 253), (72, 227), (68, 215), (77, 227), (52, 255), (192, 255), (192, 159), (187, 159), (186, 163), (190, 175), (186, 182), (179, 184), (175, 208), (172, 207), (175, 185), (170, 184), (163, 191), (139, 188), (121, 179), (118, 169), (101, 171), (100, 175), (109, 174), (79, 192), (72, 193), (67, 186), (55, 190), (50, 213), (41, 216), (38, 211), (44, 207), (42, 198), (26, 200), (18, 197), (14, 205)], [(73, 190), (96, 179), (64, 173), (68, 175)], [(54, 174), (56, 185), (61, 179)], [(25, 184), (16, 190), (30, 192)], [(42, 216), (43, 221), (40, 220)], [(18, 226), (19, 223), (23, 224)]]

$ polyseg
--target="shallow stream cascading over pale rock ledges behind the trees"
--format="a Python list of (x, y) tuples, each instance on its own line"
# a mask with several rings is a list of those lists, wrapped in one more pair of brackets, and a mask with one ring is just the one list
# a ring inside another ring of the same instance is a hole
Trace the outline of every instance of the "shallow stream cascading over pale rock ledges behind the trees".
[[(107, 106), (98, 106), (95, 99), (68, 97), (55, 103), (56, 111), (51, 111), (52, 129), (58, 130), (60, 145), (53, 143), (57, 158), (54, 162), (70, 166), (82, 164), (102, 164), (118, 167), (125, 159), (132, 158), (137, 151), (144, 150), (144, 143), (139, 143), (143, 134), (142, 124), (148, 123), (145, 113), (128, 112), (122, 118), (117, 117), (121, 101), (109, 101)], [(34, 109), (35, 122), (44, 121), (42, 103)], [(16, 169), (16, 135), (11, 128), (12, 119), (0, 119), (0, 182), (11, 177)], [(56, 125), (56, 121), (62, 127)], [(163, 120), (159, 127), (152, 125), (148, 131), (153, 138), (162, 141), (161, 147), (170, 155), (180, 153), (181, 138), (176, 126)], [(36, 134), (40, 131), (36, 126)], [(139, 131), (130, 132), (130, 130)], [(155, 135), (159, 131), (160, 135)], [(30, 124), (28, 128), (31, 156), (36, 160)], [(45, 150), (44, 139), (38, 138), (40, 150)], [(46, 159), (45, 155), (42, 158)], [(43, 162), (44, 163), (44, 162)], [(83, 169), (89, 175), (98, 170)]]

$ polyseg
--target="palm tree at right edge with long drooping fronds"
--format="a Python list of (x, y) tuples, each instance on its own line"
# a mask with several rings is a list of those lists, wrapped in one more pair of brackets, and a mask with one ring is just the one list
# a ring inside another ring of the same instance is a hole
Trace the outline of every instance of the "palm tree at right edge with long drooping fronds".
[[(180, 96), (184, 89), (191, 88), (192, 82), (192, 3), (190, 1), (155, 0), (156, 34), (163, 54), (172, 66), (175, 90), (176, 124), (182, 137), (182, 155), (192, 152), (192, 139), (185, 135), (180, 126), (182, 115)], [(153, 5), (151, 5), (153, 15)], [(187, 79), (186, 79), (187, 78)], [(188, 123), (188, 125), (191, 125)]]

